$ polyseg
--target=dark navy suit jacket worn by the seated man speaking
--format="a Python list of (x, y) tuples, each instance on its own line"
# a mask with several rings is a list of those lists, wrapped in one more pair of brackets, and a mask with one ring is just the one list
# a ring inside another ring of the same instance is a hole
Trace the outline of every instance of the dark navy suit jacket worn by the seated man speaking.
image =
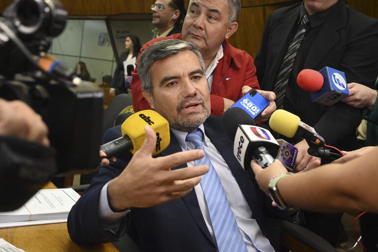
[[(265, 218), (264, 214), (271, 210), (271, 207), (268, 207), (267, 211), (263, 210), (263, 205), (264, 207), (270, 205), (271, 201), (259, 190), (254, 178), (251, 180), (249, 174), (239, 165), (233, 155), (232, 142), (223, 132), (220, 123), (220, 117), (209, 117), (204, 124), (205, 133), (230, 167), (262, 232), (277, 248), (280, 234), (279, 221)], [(104, 141), (119, 136), (120, 126), (116, 126), (107, 131)], [(182, 151), (181, 147), (171, 132), (169, 146), (159, 155), (166, 156), (179, 151)], [(216, 245), (205, 224), (194, 190), (180, 200), (153, 207), (132, 208), (122, 221), (117, 234), (100, 226), (98, 203), (101, 188), (122, 172), (131, 157), (129, 153), (117, 156), (116, 162), (108, 167), (103, 166), (100, 174), (91, 181), (90, 187), (69, 214), (67, 225), (71, 238), (77, 243), (104, 243), (115, 241), (127, 229), (130, 237), (139, 244), (142, 251), (216, 252)], [(186, 167), (186, 164), (172, 169), (183, 167)]]

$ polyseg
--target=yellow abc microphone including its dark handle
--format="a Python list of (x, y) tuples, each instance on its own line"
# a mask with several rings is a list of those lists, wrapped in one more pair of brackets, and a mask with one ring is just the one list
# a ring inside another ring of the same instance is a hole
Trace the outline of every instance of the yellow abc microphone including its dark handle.
[(169, 123), (154, 110), (141, 110), (129, 116), (121, 125), (122, 137), (100, 146), (108, 157), (123, 151), (135, 154), (146, 139), (144, 126), (151, 126), (156, 133), (156, 146), (152, 155), (156, 155), (168, 147), (170, 142)]

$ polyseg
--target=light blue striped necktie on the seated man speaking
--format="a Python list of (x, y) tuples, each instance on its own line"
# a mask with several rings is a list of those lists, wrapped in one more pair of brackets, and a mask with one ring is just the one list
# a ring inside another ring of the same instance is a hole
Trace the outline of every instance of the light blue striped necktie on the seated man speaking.
[[(201, 130), (197, 129), (189, 133), (186, 140), (193, 143), (196, 150), (204, 151)], [(197, 166), (206, 164), (210, 167), (209, 172), (202, 176), (201, 186), (207, 202), (219, 252), (247, 252), (234, 213), (208, 155), (205, 153), (202, 159), (196, 160), (194, 163)]]

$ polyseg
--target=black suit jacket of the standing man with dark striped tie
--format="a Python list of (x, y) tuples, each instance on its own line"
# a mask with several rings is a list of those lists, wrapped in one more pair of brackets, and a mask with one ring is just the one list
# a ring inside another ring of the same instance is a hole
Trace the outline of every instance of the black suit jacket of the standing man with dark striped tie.
[[(328, 66), (345, 72), (349, 83), (373, 87), (378, 72), (378, 21), (339, 1), (337, 4), (341, 4), (341, 8), (322, 24), (304, 65), (292, 71), (297, 76), (302, 69), (319, 71)], [(269, 17), (261, 50), (255, 59), (256, 75), (263, 90), (273, 90), (299, 10), (300, 4), (296, 4), (276, 10)], [(296, 80), (293, 81), (297, 85)], [(333, 106), (312, 102), (310, 94), (300, 88), (295, 94), (296, 97), (285, 97), (285, 100), (292, 99), (296, 104), (295, 111), (290, 112), (314, 126), (327, 144), (343, 150), (353, 148), (355, 128), (361, 121), (359, 109), (343, 102)]]

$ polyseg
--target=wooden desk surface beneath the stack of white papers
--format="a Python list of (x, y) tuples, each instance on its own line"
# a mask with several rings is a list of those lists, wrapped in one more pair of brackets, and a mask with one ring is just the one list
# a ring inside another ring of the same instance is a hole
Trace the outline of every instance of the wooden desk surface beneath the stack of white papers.
[[(49, 182), (42, 189), (56, 188)], [(118, 252), (111, 244), (79, 246), (67, 231), (67, 223), (0, 228), (0, 238), (26, 252)]]

